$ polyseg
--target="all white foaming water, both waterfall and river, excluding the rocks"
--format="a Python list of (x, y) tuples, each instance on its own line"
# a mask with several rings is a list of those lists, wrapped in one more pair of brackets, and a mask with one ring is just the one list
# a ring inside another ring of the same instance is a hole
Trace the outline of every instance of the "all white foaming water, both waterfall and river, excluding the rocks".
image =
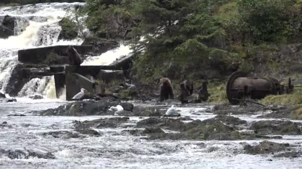
[[(75, 5), (84, 3), (41, 3), (0, 8), (0, 16), (8, 14), (21, 18), (16, 35), (0, 39), (0, 91), (5, 91), (7, 87), (11, 70), (17, 64), (19, 49), (82, 42), (80, 39), (68, 42), (57, 40), (61, 31), (58, 22)], [(29, 19), (29, 25), (23, 28), (22, 23), (26, 19)], [(126, 55), (130, 51), (129, 47), (121, 45), (117, 50), (88, 58), (83, 64), (110, 64), (117, 56)], [(301, 157), (275, 158), (273, 155), (242, 153), (245, 143), (257, 145), (263, 139), (151, 141), (123, 132), (125, 127), (93, 128), (101, 133), (100, 136), (64, 138), (46, 135), (44, 133), (50, 131), (72, 131), (74, 121), (113, 117), (39, 116), (37, 111), (57, 108), (67, 103), (64, 97), (55, 99), (54, 93), (52, 77), (33, 79), (24, 85), (16, 98), (17, 102), (0, 103), (0, 169), (302, 169)], [(32, 94), (41, 94), (45, 98), (29, 99), (28, 96)], [(158, 106), (162, 109), (170, 107), (153, 102), (134, 105)], [(209, 104), (176, 105), (182, 117), (187, 116), (193, 120), (215, 117), (216, 115), (209, 113), (213, 107)], [(264, 120), (257, 117), (267, 113), (270, 112), (234, 117), (252, 123)], [(130, 117), (130, 125), (146, 118), (148, 117)], [(294, 144), (297, 151), (302, 151), (302, 135), (282, 137), (268, 140)]]

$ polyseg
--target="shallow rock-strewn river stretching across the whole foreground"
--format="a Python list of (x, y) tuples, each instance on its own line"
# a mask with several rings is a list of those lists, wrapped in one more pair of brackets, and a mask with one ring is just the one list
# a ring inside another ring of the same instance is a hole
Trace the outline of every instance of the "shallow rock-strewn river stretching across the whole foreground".
[[(302, 162), (302, 123), (263, 118), (276, 107), (177, 104), (181, 117), (163, 117), (171, 104), (111, 97), (0, 104), (5, 169), (294, 169)], [(109, 110), (118, 104), (123, 112)]]

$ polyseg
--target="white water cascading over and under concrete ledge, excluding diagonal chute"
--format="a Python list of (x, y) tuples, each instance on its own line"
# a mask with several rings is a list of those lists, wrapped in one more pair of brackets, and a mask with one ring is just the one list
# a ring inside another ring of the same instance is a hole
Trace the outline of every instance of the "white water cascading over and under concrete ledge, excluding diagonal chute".
[[(0, 18), (5, 15), (16, 17), (14, 36), (0, 39), (0, 92), (5, 92), (11, 71), (17, 65), (17, 51), (20, 49), (59, 44), (80, 44), (82, 40), (59, 41), (61, 27), (58, 22), (69, 9), (85, 3), (47, 3), (0, 8)], [(33, 93), (46, 94), (47, 78), (33, 79), (19, 93), (25, 96)], [(32, 88), (31, 84), (36, 84)], [(54, 85), (54, 84), (53, 84)], [(49, 87), (51, 88), (51, 87)], [(49, 94), (51, 95), (51, 94)]]

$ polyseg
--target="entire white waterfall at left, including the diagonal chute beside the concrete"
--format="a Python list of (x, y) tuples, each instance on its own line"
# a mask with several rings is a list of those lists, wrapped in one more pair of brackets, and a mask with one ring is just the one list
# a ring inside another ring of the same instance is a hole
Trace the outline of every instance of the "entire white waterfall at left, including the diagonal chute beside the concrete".
[[(70, 14), (70, 9), (84, 4), (78, 2), (38, 3), (35, 5), (0, 7), (0, 21), (3, 20), (5, 15), (15, 18), (14, 35), (6, 39), (0, 38), (0, 92), (5, 93), (12, 71), (18, 64), (18, 50), (51, 45), (79, 45), (83, 42), (79, 38), (71, 41), (58, 41), (58, 37), (62, 30), (59, 21)], [(87, 29), (85, 33), (89, 34)], [(109, 65), (131, 51), (130, 46), (121, 44), (119, 48), (107, 51), (99, 56), (88, 56), (82, 65)], [(30, 80), (19, 91), (18, 97), (28, 97), (33, 94), (41, 94), (47, 98), (55, 99), (54, 78), (44, 77)]]

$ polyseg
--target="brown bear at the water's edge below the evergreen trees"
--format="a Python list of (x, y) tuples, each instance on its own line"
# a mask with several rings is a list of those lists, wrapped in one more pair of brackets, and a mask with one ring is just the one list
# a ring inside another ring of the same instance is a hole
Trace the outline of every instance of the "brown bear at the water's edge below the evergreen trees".
[(171, 81), (168, 78), (162, 78), (159, 81), (159, 101), (173, 99), (173, 89)]

